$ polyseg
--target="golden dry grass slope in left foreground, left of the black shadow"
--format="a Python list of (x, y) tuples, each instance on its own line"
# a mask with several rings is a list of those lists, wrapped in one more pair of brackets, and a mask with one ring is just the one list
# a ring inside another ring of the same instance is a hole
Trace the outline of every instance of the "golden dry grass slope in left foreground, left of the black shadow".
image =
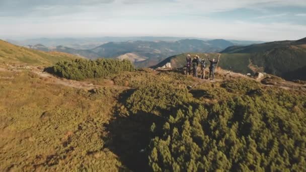
[(30, 71), (0, 71), (0, 171), (124, 168), (102, 140), (121, 92), (88, 92)]

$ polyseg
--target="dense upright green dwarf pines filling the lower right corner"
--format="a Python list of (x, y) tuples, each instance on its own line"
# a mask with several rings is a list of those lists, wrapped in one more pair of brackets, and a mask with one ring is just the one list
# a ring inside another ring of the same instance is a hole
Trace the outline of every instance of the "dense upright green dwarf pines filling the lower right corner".
[(284, 90), (260, 92), (206, 109), (183, 108), (163, 125), (153, 124), (151, 169), (305, 171), (306, 97)]

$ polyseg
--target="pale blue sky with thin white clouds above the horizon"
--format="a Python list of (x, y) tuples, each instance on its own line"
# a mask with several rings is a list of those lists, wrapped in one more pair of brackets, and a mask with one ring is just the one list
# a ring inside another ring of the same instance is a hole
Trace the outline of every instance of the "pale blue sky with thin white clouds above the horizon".
[(305, 0), (0, 0), (0, 39), (306, 37)]

